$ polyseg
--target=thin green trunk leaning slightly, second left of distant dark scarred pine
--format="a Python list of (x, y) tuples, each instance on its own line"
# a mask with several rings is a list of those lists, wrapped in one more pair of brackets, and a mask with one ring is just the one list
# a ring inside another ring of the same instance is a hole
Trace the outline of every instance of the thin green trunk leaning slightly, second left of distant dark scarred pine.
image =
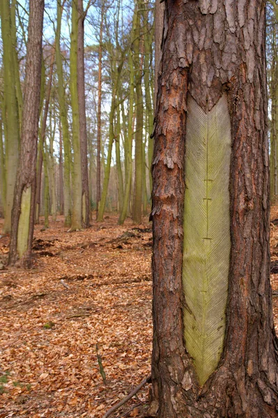
[(61, 40), (61, 20), (62, 20), (62, 6), (61, 0), (57, 0), (57, 27), (55, 37), (55, 52), (56, 52), (56, 70), (58, 77), (58, 97), (59, 97), (59, 111), (62, 126), (63, 137), (63, 206), (65, 214), (65, 226), (71, 224), (71, 197), (70, 197), (70, 133), (68, 128), (68, 110), (65, 100), (65, 87), (63, 84), (63, 65), (60, 50)]

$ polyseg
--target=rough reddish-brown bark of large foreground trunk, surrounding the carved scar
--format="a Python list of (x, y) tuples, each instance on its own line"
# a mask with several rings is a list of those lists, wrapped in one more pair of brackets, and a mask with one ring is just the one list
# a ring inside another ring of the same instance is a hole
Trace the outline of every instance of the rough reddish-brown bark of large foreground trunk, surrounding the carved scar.
[[(277, 417), (265, 1), (169, 0), (165, 6), (153, 160), (152, 378), (157, 417)], [(187, 91), (203, 111), (213, 109), (226, 92), (231, 120), (226, 335), (218, 367), (202, 388), (183, 342)]]

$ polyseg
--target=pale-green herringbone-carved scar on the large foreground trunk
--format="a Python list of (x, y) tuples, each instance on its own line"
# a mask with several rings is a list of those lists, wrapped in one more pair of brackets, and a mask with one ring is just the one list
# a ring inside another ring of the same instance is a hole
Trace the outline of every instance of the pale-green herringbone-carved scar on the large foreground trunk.
[(187, 102), (183, 310), (185, 346), (200, 385), (217, 368), (225, 336), (230, 262), (231, 121), (226, 94), (208, 112)]

